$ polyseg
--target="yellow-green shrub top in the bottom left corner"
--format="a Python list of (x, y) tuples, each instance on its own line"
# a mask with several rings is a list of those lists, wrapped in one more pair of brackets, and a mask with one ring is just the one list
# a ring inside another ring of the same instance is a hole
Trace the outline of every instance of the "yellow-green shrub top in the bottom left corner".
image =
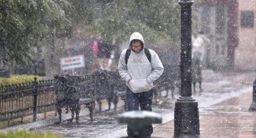
[(24, 129), (18, 129), (16, 131), (10, 131), (8, 133), (0, 133), (0, 137), (1, 138), (58, 138), (58, 137), (62, 137), (59, 136), (58, 134), (54, 134), (54, 133), (42, 133), (42, 132), (36, 132), (36, 131), (28, 131), (28, 130), (24, 130)]

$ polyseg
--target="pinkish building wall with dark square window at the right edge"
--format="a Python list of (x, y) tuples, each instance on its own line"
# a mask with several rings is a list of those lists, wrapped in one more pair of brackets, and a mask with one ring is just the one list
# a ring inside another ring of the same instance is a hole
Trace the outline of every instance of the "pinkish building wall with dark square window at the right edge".
[(245, 70), (256, 70), (256, 1), (239, 0), (239, 46), (235, 65)]

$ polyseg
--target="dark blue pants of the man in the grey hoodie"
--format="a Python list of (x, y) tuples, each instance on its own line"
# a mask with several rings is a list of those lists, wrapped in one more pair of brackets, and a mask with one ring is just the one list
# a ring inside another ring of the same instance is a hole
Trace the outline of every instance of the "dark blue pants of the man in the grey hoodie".
[[(126, 98), (127, 98), (127, 110), (148, 110), (152, 111), (152, 98), (153, 98), (153, 90), (149, 90), (146, 92), (141, 92), (138, 94), (134, 94), (128, 87), (126, 87)], [(145, 136), (151, 136), (153, 133), (152, 124), (145, 126)], [(128, 136), (133, 136), (131, 133), (129, 124), (127, 125), (127, 134)]]

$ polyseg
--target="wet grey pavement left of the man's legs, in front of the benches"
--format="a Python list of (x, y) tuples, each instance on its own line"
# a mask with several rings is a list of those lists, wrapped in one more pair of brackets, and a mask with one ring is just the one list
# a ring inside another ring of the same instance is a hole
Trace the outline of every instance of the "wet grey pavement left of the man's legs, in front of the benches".
[(36, 130), (44, 132), (52, 131), (67, 137), (96, 137), (102, 131), (107, 133), (112, 130), (125, 128), (124, 125), (118, 125), (116, 122), (117, 114), (122, 112), (125, 112), (125, 110), (119, 109), (116, 113), (103, 111), (101, 113), (95, 113), (93, 121), (90, 121), (88, 116), (81, 116), (80, 124), (63, 121), (60, 125), (49, 125), (37, 128)]

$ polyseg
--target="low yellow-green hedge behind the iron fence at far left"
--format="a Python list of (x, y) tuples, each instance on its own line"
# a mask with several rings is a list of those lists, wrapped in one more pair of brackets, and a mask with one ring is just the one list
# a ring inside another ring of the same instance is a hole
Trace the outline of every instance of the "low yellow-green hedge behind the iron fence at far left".
[(37, 77), (37, 80), (42, 80), (42, 77), (40, 76), (33, 76), (33, 75), (17, 75), (12, 74), (10, 77), (0, 77), (0, 85), (11, 85), (16, 83), (27, 83), (27, 82), (33, 82), (34, 77)]

